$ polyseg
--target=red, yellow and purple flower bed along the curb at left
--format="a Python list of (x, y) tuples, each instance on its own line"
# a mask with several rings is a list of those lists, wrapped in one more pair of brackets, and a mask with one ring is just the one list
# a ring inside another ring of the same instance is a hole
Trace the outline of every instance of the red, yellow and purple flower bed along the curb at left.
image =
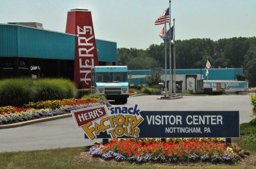
[(106, 100), (82, 98), (31, 102), (25, 105), (26, 108), (13, 106), (0, 107), (0, 125), (66, 114), (75, 109), (102, 104), (106, 104), (108, 107), (111, 106)]

